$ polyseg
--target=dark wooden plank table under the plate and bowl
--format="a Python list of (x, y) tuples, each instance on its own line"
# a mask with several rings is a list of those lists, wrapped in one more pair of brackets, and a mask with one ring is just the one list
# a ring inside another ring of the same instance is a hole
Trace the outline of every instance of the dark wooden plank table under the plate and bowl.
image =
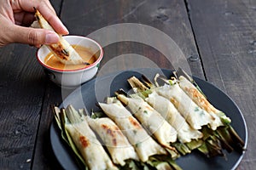
[[(153, 26), (172, 37), (188, 59), (192, 74), (212, 82), (240, 107), (247, 122), (248, 144), (238, 169), (255, 169), (256, 1), (51, 3), (72, 35), (87, 36), (106, 26), (137, 23)], [(147, 44), (115, 42), (104, 47), (104, 51), (102, 66), (121, 54), (139, 54), (159, 67), (171, 68), (165, 56)], [(0, 48), (0, 169), (61, 168), (49, 141), (53, 121), (49, 106), (60, 104), (71, 91), (61, 93), (61, 88), (49, 82), (35, 53), (36, 48), (21, 44)], [(108, 71), (125, 68), (124, 64), (115, 65)]]

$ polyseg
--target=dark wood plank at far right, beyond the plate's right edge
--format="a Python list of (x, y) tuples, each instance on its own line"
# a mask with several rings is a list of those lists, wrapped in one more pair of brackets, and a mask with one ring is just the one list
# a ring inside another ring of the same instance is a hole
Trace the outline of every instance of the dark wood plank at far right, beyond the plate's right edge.
[(256, 166), (255, 72), (256, 2), (246, 0), (189, 0), (207, 80), (235, 100), (245, 116), (248, 147), (240, 169)]

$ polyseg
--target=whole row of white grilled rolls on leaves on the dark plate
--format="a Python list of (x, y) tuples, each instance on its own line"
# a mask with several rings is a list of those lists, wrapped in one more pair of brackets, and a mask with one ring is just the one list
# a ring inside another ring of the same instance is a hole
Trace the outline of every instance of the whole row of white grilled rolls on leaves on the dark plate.
[[(157, 75), (153, 84), (146, 77), (143, 82), (131, 77), (128, 82), (134, 93), (117, 91), (107, 102), (98, 102), (101, 112), (92, 115), (71, 105), (55, 107), (62, 138), (90, 169), (179, 170), (175, 159), (194, 150), (207, 157), (224, 156), (223, 150), (244, 151), (244, 141), (231, 127), (230, 118), (207, 101), (195, 82), (183, 78)], [(164, 85), (159, 85), (159, 79)], [(88, 142), (79, 143), (81, 136)], [(105, 146), (91, 148), (94, 154), (89, 156), (83, 144), (91, 144), (90, 139), (97, 145), (100, 139)], [(88, 159), (94, 160), (98, 152), (102, 161), (90, 165)]]

